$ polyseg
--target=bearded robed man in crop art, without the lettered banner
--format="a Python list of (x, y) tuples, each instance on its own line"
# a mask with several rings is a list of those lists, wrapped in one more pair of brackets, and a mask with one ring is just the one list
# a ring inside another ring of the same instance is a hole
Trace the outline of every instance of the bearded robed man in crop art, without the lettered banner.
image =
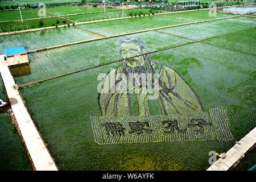
[[(119, 43), (121, 65), (106, 75), (98, 89), (102, 116), (171, 115), (203, 111), (195, 92), (183, 78), (174, 69), (151, 59), (142, 40), (121, 38)], [(157, 89), (154, 89), (157, 97), (142, 92), (143, 85), (148, 82), (152, 87), (158, 83)]]

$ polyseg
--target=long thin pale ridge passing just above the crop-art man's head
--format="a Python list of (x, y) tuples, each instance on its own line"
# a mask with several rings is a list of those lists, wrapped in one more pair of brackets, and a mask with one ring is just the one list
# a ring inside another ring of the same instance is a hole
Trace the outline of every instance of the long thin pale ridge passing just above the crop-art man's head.
[(72, 46), (72, 45), (75, 45), (75, 44), (81, 44), (81, 43), (87, 43), (87, 42), (93, 42), (93, 41), (96, 41), (96, 40), (116, 38), (116, 37), (119, 37), (119, 36), (139, 34), (139, 33), (143, 33), (143, 32), (162, 30), (162, 29), (165, 29), (165, 28), (185, 26), (185, 25), (188, 25), (188, 24), (210, 22), (210, 21), (214, 21), (214, 20), (227, 19), (227, 18), (236, 18), (238, 16), (241, 16), (241, 15), (228, 16), (228, 17), (222, 17), (222, 18), (216, 18), (216, 19), (208, 19), (208, 20), (200, 20), (200, 21), (197, 21), (197, 22), (181, 23), (181, 24), (175, 24), (175, 25), (171, 25), (171, 26), (164, 26), (164, 27), (158, 27), (158, 28), (150, 28), (150, 29), (146, 29), (146, 30), (139, 30), (139, 31), (127, 32), (127, 33), (123, 33), (123, 34), (105, 36), (104, 38), (94, 38), (94, 39), (80, 40), (80, 41), (77, 41), (77, 42), (72, 42), (72, 43), (67, 43), (67, 44), (60, 44), (60, 45), (57, 45), (57, 46), (49, 46), (49, 47), (43, 47), (43, 48), (38, 48), (38, 49), (32, 49), (32, 50), (27, 51), (27, 52), (28, 53), (34, 53), (34, 52), (40, 52), (40, 51), (47, 51), (49, 49), (60, 48), (60, 47), (65, 47), (65, 46)]

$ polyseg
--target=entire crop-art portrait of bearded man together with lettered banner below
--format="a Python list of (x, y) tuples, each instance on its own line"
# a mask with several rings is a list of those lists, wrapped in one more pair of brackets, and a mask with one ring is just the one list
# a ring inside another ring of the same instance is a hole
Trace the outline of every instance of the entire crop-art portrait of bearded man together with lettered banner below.
[(119, 40), (121, 64), (98, 78), (101, 117), (91, 116), (96, 143), (232, 139), (224, 107), (204, 110), (171, 67), (151, 58), (139, 38)]

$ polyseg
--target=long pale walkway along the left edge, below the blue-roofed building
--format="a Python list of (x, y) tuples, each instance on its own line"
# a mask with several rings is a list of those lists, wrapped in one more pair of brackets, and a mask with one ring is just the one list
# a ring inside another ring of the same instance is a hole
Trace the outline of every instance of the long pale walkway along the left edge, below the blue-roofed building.
[(7, 61), (4, 60), (3, 55), (1, 55), (0, 74), (3, 83), (5, 84), (7, 96), (11, 102), (11, 109), (13, 110), (28, 153), (31, 156), (32, 163), (37, 171), (57, 171), (57, 167), (53, 162), (51, 155), (40, 137), (30, 114), (28, 114), (28, 111), (24, 106), (19, 91), (14, 88), (15, 82), (9, 70), (9, 65), (10, 63), (7, 63)]

